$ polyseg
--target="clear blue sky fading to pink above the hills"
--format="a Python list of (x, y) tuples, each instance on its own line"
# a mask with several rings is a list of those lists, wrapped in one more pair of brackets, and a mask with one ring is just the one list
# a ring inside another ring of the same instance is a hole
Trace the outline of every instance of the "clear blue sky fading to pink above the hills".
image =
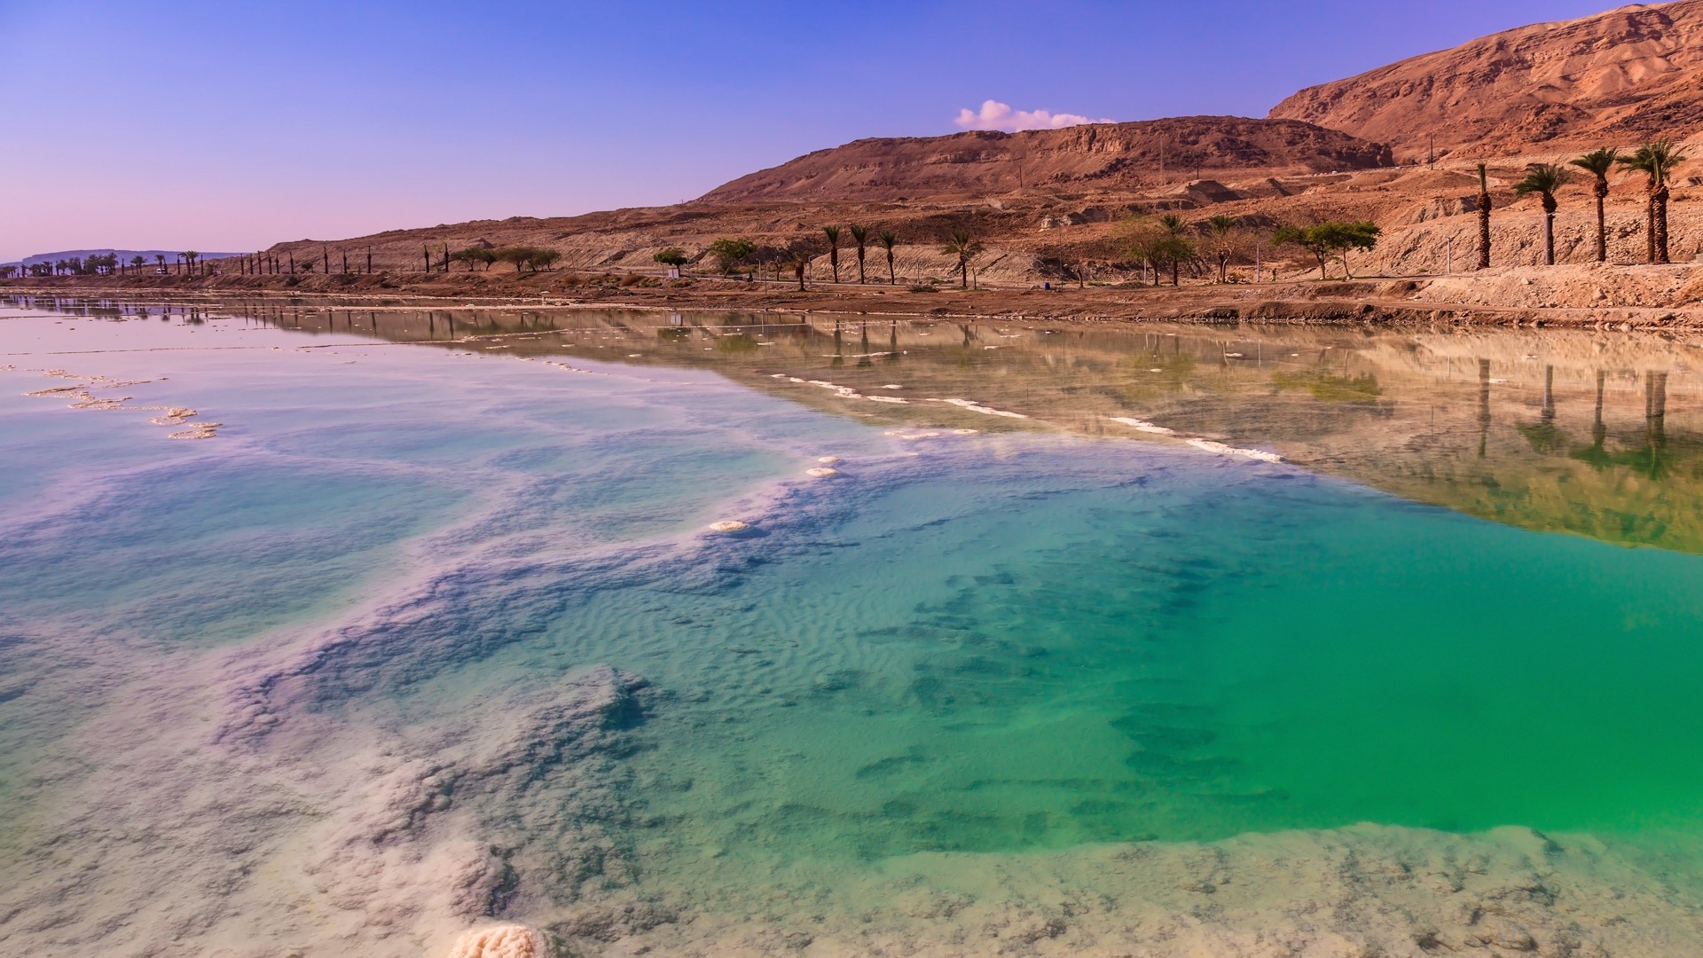
[(255, 249), (674, 203), (862, 136), (1022, 111), (1262, 116), (1603, 0), (19, 3), (0, 259)]

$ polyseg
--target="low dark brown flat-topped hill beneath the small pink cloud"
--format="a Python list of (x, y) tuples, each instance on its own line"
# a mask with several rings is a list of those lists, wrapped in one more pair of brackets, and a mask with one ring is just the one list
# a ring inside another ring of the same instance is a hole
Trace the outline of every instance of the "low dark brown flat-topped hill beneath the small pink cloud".
[[(1161, 169), (1163, 159), (1163, 169)], [(1025, 133), (857, 140), (743, 176), (710, 203), (916, 199), (1013, 189), (1127, 191), (1233, 172), (1306, 174), (1391, 165), (1390, 148), (1293, 119), (1184, 116)]]

